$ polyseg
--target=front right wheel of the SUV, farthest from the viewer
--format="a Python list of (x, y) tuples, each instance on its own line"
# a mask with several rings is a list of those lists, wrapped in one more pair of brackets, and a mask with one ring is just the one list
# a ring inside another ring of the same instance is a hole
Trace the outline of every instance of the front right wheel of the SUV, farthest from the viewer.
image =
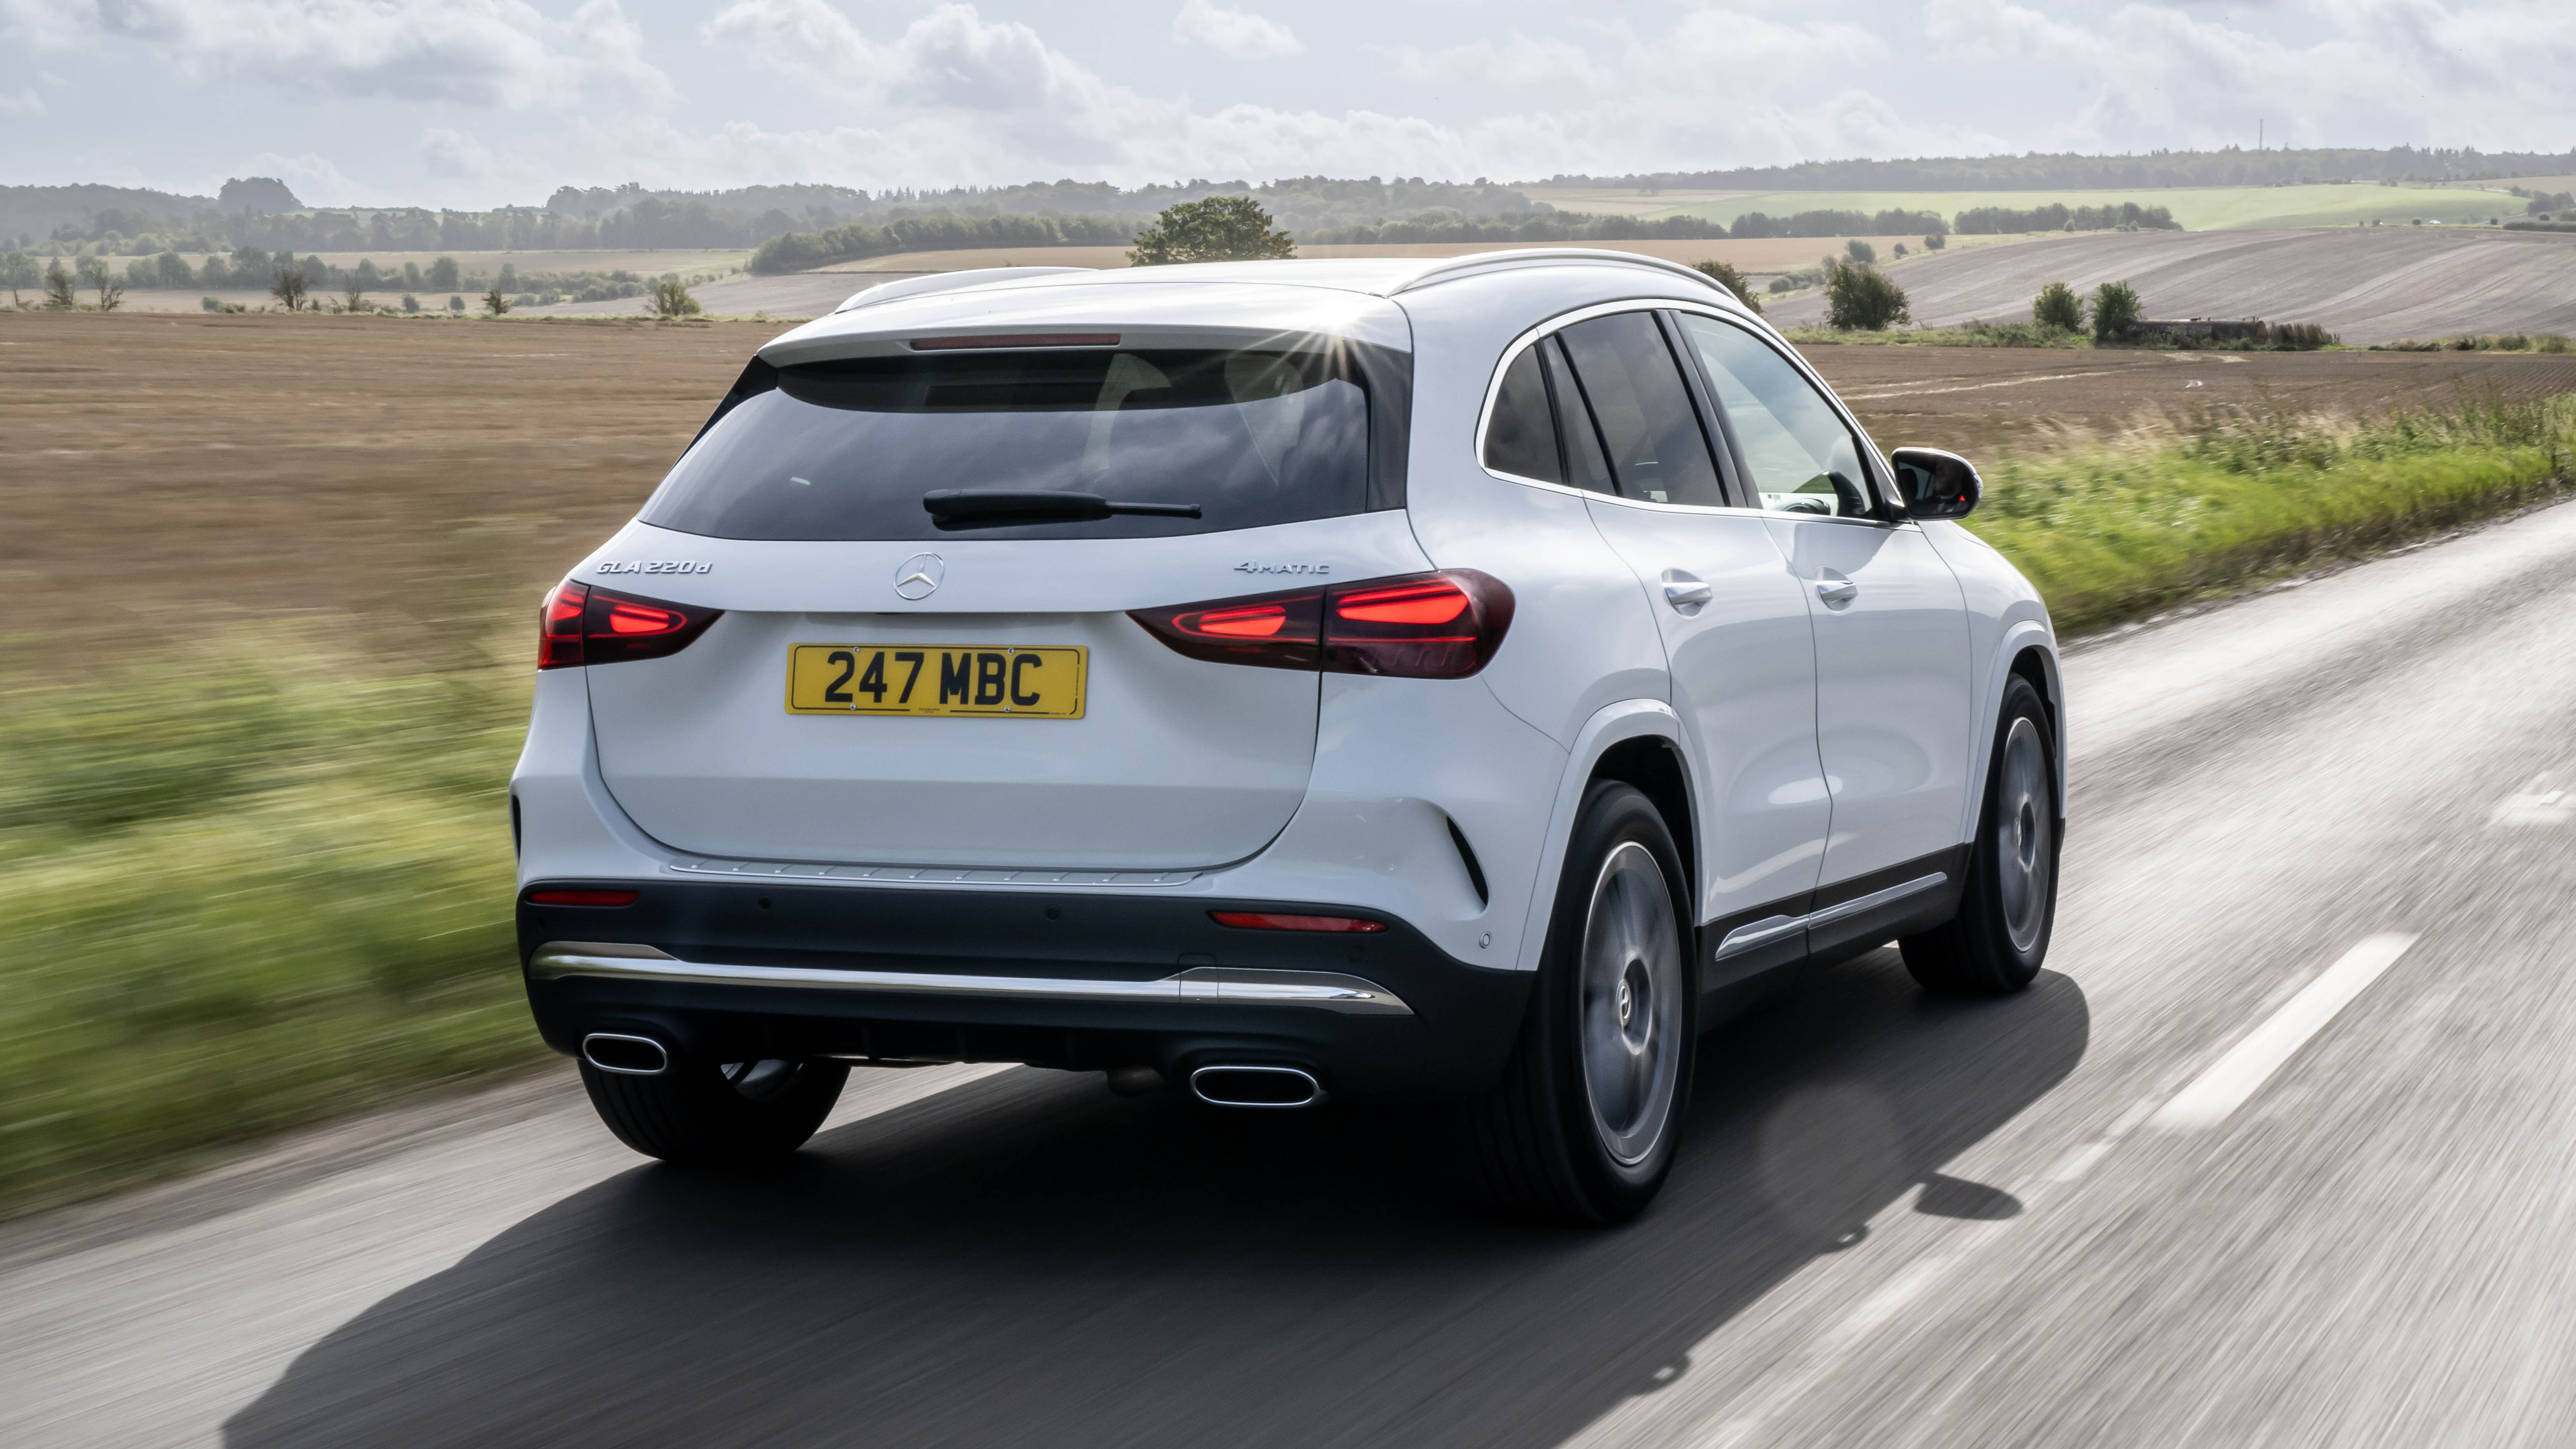
[(2058, 920), (2058, 743), (2027, 678), (2004, 686), (1986, 761), (1986, 810), (1968, 846), (1958, 915), (1906, 936), (1914, 982), (1940, 995), (2004, 995), (2030, 985)]

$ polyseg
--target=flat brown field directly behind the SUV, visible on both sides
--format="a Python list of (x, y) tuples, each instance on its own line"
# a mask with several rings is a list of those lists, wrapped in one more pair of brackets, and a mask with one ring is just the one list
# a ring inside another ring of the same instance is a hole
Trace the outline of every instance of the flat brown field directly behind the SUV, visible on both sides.
[[(376, 652), (453, 647), (533, 611), (623, 523), (778, 330), (0, 312), (0, 655), (77, 673), (281, 619)], [(2342, 413), (2576, 389), (2576, 356), (1808, 356), (1883, 443), (1971, 454), (2264, 397)]]

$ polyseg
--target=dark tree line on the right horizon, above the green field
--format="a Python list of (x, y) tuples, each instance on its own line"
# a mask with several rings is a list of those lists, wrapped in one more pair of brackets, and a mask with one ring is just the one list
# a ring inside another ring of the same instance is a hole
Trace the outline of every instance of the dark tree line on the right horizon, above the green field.
[(1551, 175), (1520, 186), (1636, 186), (1716, 191), (2136, 191), (2148, 186), (2293, 186), (2303, 180), (2501, 180), (2566, 175), (2566, 152), (2465, 150), (2156, 150), (2143, 155), (2027, 152), (1991, 157), (1808, 160), (1728, 170)]

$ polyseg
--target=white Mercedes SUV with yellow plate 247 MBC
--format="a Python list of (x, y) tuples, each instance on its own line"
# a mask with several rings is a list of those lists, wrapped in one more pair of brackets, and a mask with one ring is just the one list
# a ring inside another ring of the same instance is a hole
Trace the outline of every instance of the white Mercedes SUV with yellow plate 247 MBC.
[(1458, 1101), (1502, 1204), (1623, 1220), (1801, 967), (2040, 969), (2056, 637), (1976, 500), (1638, 255), (863, 291), (546, 598), (538, 1029), (670, 1160), (1030, 1062)]

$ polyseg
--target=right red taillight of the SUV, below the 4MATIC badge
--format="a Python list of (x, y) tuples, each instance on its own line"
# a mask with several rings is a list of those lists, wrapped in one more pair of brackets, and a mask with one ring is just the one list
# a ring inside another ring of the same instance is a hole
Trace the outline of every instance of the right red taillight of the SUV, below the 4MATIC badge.
[(1476, 570), (1139, 608), (1157, 639), (1195, 660), (1396, 678), (1466, 678), (1512, 627), (1512, 590)]

